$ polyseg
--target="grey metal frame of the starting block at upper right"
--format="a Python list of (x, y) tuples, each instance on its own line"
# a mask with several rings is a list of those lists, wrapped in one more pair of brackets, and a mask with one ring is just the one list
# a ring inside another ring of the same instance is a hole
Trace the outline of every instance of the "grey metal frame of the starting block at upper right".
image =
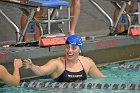
[[(119, 22), (119, 20), (120, 20), (120, 18), (123, 14), (126, 14), (127, 19), (128, 19), (128, 26), (129, 26), (128, 35), (130, 34), (130, 27), (132, 27), (132, 26), (138, 27), (137, 25), (131, 25), (132, 21), (133, 21), (132, 18), (131, 18), (131, 15), (138, 15), (138, 20), (135, 20), (135, 21), (138, 21), (138, 25), (140, 25), (140, 0), (106, 0), (106, 1), (110, 1), (116, 8), (120, 9), (117, 20), (115, 22), (103, 10), (103, 8), (101, 8), (101, 6), (99, 4), (97, 4), (97, 2), (95, 2), (94, 0), (89, 0), (89, 1), (92, 3), (92, 5), (94, 5), (109, 20), (109, 23), (110, 23), (110, 26), (109, 26), (110, 33), (109, 33), (109, 35), (116, 35), (117, 34), (117, 25), (118, 25), (118, 22)], [(120, 1), (123, 3), (122, 6), (120, 6), (118, 4), (118, 2), (120, 2)], [(138, 12), (134, 12), (134, 13), (129, 14), (125, 11), (126, 6), (131, 2), (136, 2), (137, 3), (137, 6), (138, 6), (137, 11)]]

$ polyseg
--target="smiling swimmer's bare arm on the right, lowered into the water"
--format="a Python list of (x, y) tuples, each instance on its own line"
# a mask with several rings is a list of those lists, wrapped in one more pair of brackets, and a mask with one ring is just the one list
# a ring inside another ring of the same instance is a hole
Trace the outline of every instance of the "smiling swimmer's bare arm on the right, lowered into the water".
[(107, 77), (97, 68), (94, 61), (92, 61), (91, 59), (89, 59), (89, 61), (90, 61), (91, 64), (90, 64), (90, 69), (89, 69), (88, 74), (91, 77), (95, 77), (95, 78), (105, 78), (105, 77)]

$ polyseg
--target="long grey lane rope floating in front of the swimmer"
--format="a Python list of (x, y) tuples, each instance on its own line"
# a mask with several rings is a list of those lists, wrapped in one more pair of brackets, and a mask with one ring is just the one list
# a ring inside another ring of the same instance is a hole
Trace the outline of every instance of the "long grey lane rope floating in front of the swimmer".
[(33, 89), (108, 89), (108, 90), (140, 90), (140, 84), (109, 84), (86, 82), (22, 82), (19, 87)]

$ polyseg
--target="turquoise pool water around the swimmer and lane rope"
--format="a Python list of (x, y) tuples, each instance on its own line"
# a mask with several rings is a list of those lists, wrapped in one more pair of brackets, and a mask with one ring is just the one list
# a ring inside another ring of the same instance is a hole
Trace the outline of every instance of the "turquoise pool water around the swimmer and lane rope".
[[(108, 64), (99, 68), (108, 78), (88, 78), (86, 83), (99, 84), (140, 84), (140, 60), (124, 61), (119, 64)], [(36, 79), (30, 82), (45, 82), (49, 79)], [(140, 93), (140, 90), (129, 89), (60, 89), (47, 88), (45, 90), (27, 87), (11, 87), (5, 85), (0, 88), (0, 93)]]

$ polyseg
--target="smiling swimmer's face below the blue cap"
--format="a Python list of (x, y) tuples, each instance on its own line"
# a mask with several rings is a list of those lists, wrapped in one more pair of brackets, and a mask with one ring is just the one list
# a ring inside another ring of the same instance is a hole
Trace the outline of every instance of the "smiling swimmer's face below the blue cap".
[(66, 53), (66, 58), (68, 60), (74, 60), (78, 58), (80, 53), (80, 48), (77, 45), (66, 44), (65, 53)]

